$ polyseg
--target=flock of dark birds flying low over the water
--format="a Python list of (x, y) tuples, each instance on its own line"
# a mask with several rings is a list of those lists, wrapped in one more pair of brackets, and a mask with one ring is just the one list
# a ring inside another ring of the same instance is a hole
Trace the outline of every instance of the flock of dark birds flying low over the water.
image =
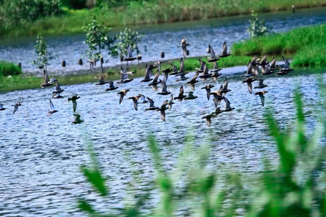
[[(185, 38), (182, 39), (181, 44), (178, 45), (177, 47), (182, 47), (182, 51), (183, 51), (183, 58), (186, 59), (186, 55), (187, 55), (187, 46), (189, 46), (190, 44), (186, 43)], [(227, 46), (226, 46), (226, 42), (224, 42), (223, 44), (223, 50), (222, 50), (222, 54), (221, 55), (215, 55), (214, 49), (209, 45), (209, 52), (211, 54), (210, 57), (208, 57), (207, 63), (213, 62), (214, 63), (214, 68), (213, 70), (208, 70), (208, 67), (206, 65), (205, 61), (201, 61), (199, 59), (199, 63), (200, 63), (200, 68), (196, 68), (196, 73), (195, 75), (186, 82), (186, 84), (190, 85), (190, 88), (194, 91), (195, 90), (195, 84), (197, 82), (199, 82), (199, 80), (197, 80), (197, 78), (199, 77), (201, 81), (205, 81), (207, 79), (211, 79), (215, 82), (217, 80), (217, 78), (222, 75), (221, 73), (219, 73), (219, 71), (221, 69), (218, 68), (218, 64), (217, 61), (220, 60), (220, 58), (226, 58), (228, 56), (230, 56), (231, 54), (227, 52)], [(282, 56), (283, 57), (283, 56)], [(186, 77), (186, 74), (188, 72), (185, 72), (185, 64), (184, 64), (184, 59), (181, 58), (180, 59), (180, 68), (178, 70), (177, 66), (170, 63), (170, 65), (172, 66), (172, 68), (167, 68), (167, 69), (162, 69), (161, 71), (161, 64), (163, 63), (163, 61), (157, 61), (155, 63), (152, 64), (146, 64), (145, 66), (145, 76), (144, 78), (140, 81), (140, 82), (151, 82), (148, 84), (148, 86), (152, 86), (154, 91), (157, 91), (157, 85), (161, 85), (162, 88), (160, 89), (161, 92), (157, 92), (157, 94), (159, 95), (170, 95), (169, 100), (165, 100), (163, 102), (163, 104), (160, 107), (156, 107), (154, 105), (154, 101), (149, 98), (149, 97), (145, 97), (142, 94), (138, 94), (132, 97), (129, 97), (129, 100), (133, 101), (134, 104), (134, 108), (137, 111), (138, 110), (138, 104), (143, 104), (143, 103), (148, 103), (149, 102), (149, 108), (146, 108), (145, 111), (160, 111), (161, 114), (161, 119), (163, 121), (165, 121), (166, 119), (166, 114), (165, 111), (169, 110), (172, 108), (172, 104), (174, 104), (175, 100), (178, 100), (179, 102), (181, 102), (182, 100), (194, 100), (196, 98), (198, 98), (198, 96), (194, 96), (194, 92), (193, 91), (188, 91), (185, 93), (188, 93), (188, 95), (184, 95), (184, 87), (183, 85), (180, 87), (180, 91), (179, 91), (179, 95), (177, 97), (173, 98), (173, 95), (170, 91), (167, 90), (167, 81), (168, 81), (168, 77), (171, 75), (174, 76), (180, 76), (180, 78), (178, 78), (176, 81), (185, 81), (188, 79), (188, 77)], [(136, 57), (132, 56), (132, 49), (130, 46), (128, 46), (128, 55), (127, 57), (124, 59), (124, 61), (134, 61), (136, 60)], [(259, 66), (261, 67), (261, 75), (270, 75), (272, 73), (274, 73), (274, 71), (279, 68), (279, 71), (275, 73), (275, 75), (285, 75), (288, 74), (289, 72), (291, 72), (293, 69), (289, 67), (289, 61), (283, 57), (283, 60), (285, 62), (284, 67), (282, 68), (279, 65), (276, 65), (275, 63), (275, 58), (273, 57), (271, 64), (267, 61), (267, 55), (265, 54), (262, 58), (257, 58), (256, 56), (254, 56), (247, 64), (247, 72), (245, 75), (242, 75), (242, 77), (245, 78), (245, 80), (242, 81), (242, 83), (247, 83), (248, 86), (248, 91), (250, 94), (252, 94), (252, 83), (255, 81), (259, 81), (258, 86), (254, 87), (254, 88), (265, 88), (267, 87), (267, 85), (265, 85), (263, 82), (264, 80), (259, 78), (258, 74), (259, 74)], [(96, 66), (96, 60), (89, 60), (87, 61), (90, 64), (90, 72), (93, 72), (93, 68), (94, 66)], [(120, 81), (116, 82), (118, 85), (123, 85), (125, 83), (129, 83), (131, 81), (133, 81), (133, 79), (129, 78), (129, 75), (133, 75), (135, 72), (127, 72), (123, 67), (120, 67), (121, 71), (119, 71), (119, 75), (120, 75)], [(154, 74), (153, 73), (153, 69), (157, 68), (156, 73), (154, 75), (154, 79), (151, 78), (151, 76)], [(41, 88), (45, 88), (45, 87), (50, 87), (52, 86), (54, 83), (56, 84), (55, 86), (55, 91), (52, 92), (52, 99), (58, 99), (58, 98), (62, 98), (62, 96), (60, 95), (63, 91), (65, 91), (64, 89), (60, 88), (60, 84), (58, 82), (58, 80), (55, 78), (55, 76), (52, 76), (51, 79), (49, 79), (49, 76), (47, 74), (47, 72), (44, 70), (44, 83), (41, 84)], [(160, 72), (164, 75), (163, 80), (159, 79), (159, 74)], [(115, 87), (113, 81), (105, 81), (104, 80), (104, 76), (100, 75), (97, 76), (99, 78), (98, 83), (96, 83), (95, 85), (105, 85), (105, 84), (109, 84), (109, 88), (106, 88), (106, 91), (112, 91), (115, 90), (119, 87)], [(211, 126), (211, 119), (215, 118), (217, 115), (224, 113), (224, 112), (230, 112), (232, 111), (234, 108), (230, 106), (230, 101), (225, 97), (225, 95), (231, 91), (230, 89), (228, 89), (228, 80), (227, 78), (225, 78), (224, 80), (224, 84), (220, 86), (220, 88), (218, 90), (215, 91), (211, 91), (211, 88), (214, 88), (215, 86), (212, 84), (206, 85), (205, 87), (202, 87), (201, 89), (205, 89), (207, 91), (207, 99), (210, 100), (210, 96), (213, 95), (214, 99), (214, 104), (215, 104), (215, 110), (213, 112), (211, 112), (209, 115), (205, 115), (202, 117), (202, 119), (206, 119), (206, 123), (207, 126), (210, 127)], [(119, 104), (121, 104), (121, 102), (123, 101), (124, 97), (127, 95), (127, 93), (129, 92), (129, 89), (123, 89), (119, 92), (117, 92), (117, 95), (120, 95), (120, 100), (119, 100)], [(267, 93), (268, 91), (266, 90), (261, 90), (255, 93), (255, 95), (259, 95), (260, 99), (261, 99), (261, 104), (262, 106), (264, 106), (264, 102), (265, 102), (265, 98), (264, 95)], [(78, 95), (74, 95), (70, 98), (68, 98), (68, 102), (72, 102), (73, 105), (73, 111), (74, 111), (74, 116), (75, 119), (73, 122), (71, 122), (71, 124), (75, 125), (76, 124), (80, 124), (83, 122), (83, 120), (81, 120), (81, 115), (79, 114), (75, 114), (76, 112), (76, 108), (77, 108), (77, 100), (80, 97)], [(145, 99), (147, 98), (147, 100)], [(218, 105), (221, 103), (221, 101), (225, 102), (225, 109), (221, 109), (221, 107)], [(13, 114), (17, 111), (18, 107), (21, 106), (22, 104), (20, 102), (12, 105), (14, 106), (14, 111)], [(3, 104), (0, 104), (0, 111), (5, 110), (6, 108), (3, 107)], [(50, 99), (50, 110), (48, 113), (48, 116), (56, 113), (57, 110), (54, 109), (53, 103)]]

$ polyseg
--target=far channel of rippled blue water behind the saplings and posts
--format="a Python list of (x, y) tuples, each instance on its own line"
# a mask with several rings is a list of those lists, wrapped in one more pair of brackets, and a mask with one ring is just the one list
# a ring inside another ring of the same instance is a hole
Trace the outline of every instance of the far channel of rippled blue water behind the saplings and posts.
[[(292, 12), (277, 12), (259, 15), (266, 20), (268, 26), (273, 26), (275, 32), (287, 31), (294, 27), (304, 25), (314, 25), (326, 21), (325, 10), (307, 9)], [(236, 16), (229, 18), (219, 18), (211, 20), (199, 20), (189, 22), (178, 22), (160, 25), (147, 25), (132, 27), (144, 34), (144, 38), (139, 47), (142, 54), (142, 61), (157, 61), (160, 52), (165, 52), (165, 59), (180, 58), (181, 49), (176, 45), (182, 37), (186, 37), (189, 46), (190, 56), (206, 55), (208, 44), (212, 45), (216, 53), (222, 49), (222, 44), (227, 41), (229, 48), (233, 42), (248, 38), (246, 29), (249, 26), (250, 16)], [(118, 29), (113, 29), (115, 34)], [(50, 50), (59, 57), (50, 61), (49, 71), (56, 71), (57, 74), (78, 70), (87, 70), (89, 66), (78, 65), (78, 59), (84, 55), (87, 46), (84, 45), (84, 35), (48, 37)], [(22, 69), (26, 72), (34, 72), (42, 75), (42, 72), (30, 62), (36, 59), (34, 53), (35, 38), (19, 38), (15, 40), (0, 41), (0, 60), (21, 62)], [(144, 46), (147, 46), (147, 52)], [(104, 53), (104, 59), (109, 60), (105, 66), (112, 66), (119, 63), (118, 59), (111, 59)], [(67, 66), (61, 67), (61, 61), (65, 60)], [(100, 70), (100, 68), (96, 68)]]

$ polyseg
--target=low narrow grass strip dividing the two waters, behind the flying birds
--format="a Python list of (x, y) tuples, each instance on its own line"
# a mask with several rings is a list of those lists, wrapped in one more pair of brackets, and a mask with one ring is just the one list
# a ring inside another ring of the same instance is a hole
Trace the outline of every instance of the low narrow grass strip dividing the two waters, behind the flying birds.
[[(207, 61), (206, 57), (200, 57), (203, 61)], [(228, 58), (223, 58), (218, 62), (219, 68), (245, 65), (246, 62), (250, 59), (250, 56), (230, 56)], [(277, 57), (280, 60), (280, 57)], [(180, 65), (180, 60), (172, 60), (167, 61), (162, 64), (162, 68), (171, 68), (170, 63), (175, 64), (177, 67)], [(125, 66), (124, 66), (125, 67)], [(137, 65), (132, 65), (129, 67), (130, 71), (135, 71), (136, 74), (134, 77), (144, 76), (144, 67), (145, 63), (140, 65), (140, 71), (138, 71)], [(198, 58), (188, 58), (185, 60), (185, 70), (186, 71), (195, 71), (195, 68), (199, 68)], [(213, 69), (213, 63), (208, 64), (209, 69)], [(120, 76), (117, 73), (117, 70), (120, 67), (109, 68), (106, 74), (106, 80), (118, 80)], [(155, 73), (155, 71), (154, 71)], [(223, 72), (222, 72), (223, 73)], [(98, 78), (96, 75), (99, 72), (94, 74), (83, 74), (83, 75), (67, 75), (67, 76), (59, 76), (60, 84), (64, 85), (72, 85), (72, 84), (83, 84), (87, 82), (96, 82)], [(40, 84), (43, 83), (43, 77), (30, 76), (26, 77), (25, 75), (12, 75), (11, 77), (2, 76), (0, 79), (0, 92), (5, 91), (13, 91), (13, 90), (23, 90), (23, 89), (33, 89), (39, 88)]]

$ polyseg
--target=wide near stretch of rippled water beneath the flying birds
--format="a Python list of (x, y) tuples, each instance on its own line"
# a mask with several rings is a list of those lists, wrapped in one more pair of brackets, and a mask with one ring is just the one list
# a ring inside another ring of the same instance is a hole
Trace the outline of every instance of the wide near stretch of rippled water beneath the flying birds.
[[(226, 97), (235, 110), (222, 113), (212, 120), (212, 127), (206, 126), (201, 116), (215, 109), (213, 101), (207, 101), (206, 91), (200, 89), (211, 81), (198, 82), (195, 100), (176, 102), (171, 111), (166, 111), (167, 121), (160, 120), (156, 111), (143, 110), (148, 104), (140, 104), (135, 111), (127, 97), (142, 93), (152, 98), (156, 106), (169, 96), (157, 95), (140, 78), (121, 85), (130, 92), (119, 105), (119, 90), (105, 92), (106, 86), (92, 83), (64, 86), (64, 98), (54, 99), (53, 104), (59, 112), (47, 117), (49, 99), (54, 88), (13, 91), (0, 94), (1, 103), (7, 110), (0, 111), (0, 215), (5, 216), (82, 216), (76, 208), (77, 198), (93, 199), (94, 204), (103, 211), (110, 207), (122, 207), (126, 197), (126, 183), (130, 183), (132, 173), (126, 154), (132, 167), (140, 173), (139, 191), (152, 189), (154, 171), (151, 155), (147, 148), (148, 132), (154, 131), (160, 139), (165, 168), (175, 163), (177, 153), (183, 148), (185, 135), (192, 127), (196, 144), (207, 139), (212, 133), (212, 155), (210, 166), (218, 168), (229, 165), (236, 171), (255, 173), (261, 169), (263, 154), (271, 158), (277, 156), (274, 142), (267, 136), (264, 125), (264, 108), (259, 96), (250, 95), (246, 84), (241, 84), (240, 75), (244, 67), (223, 69), (222, 76), (215, 83), (221, 85), (226, 77), (232, 90)], [(317, 73), (322, 73), (321, 77)], [(325, 70), (296, 70), (289, 75), (267, 75), (268, 85), (265, 95), (265, 107), (273, 107), (275, 117), (282, 126), (294, 119), (293, 89), (300, 84), (304, 92), (304, 112), (308, 127), (314, 127), (319, 107), (317, 80), (325, 81)], [(234, 74), (235, 73), (235, 74)], [(191, 77), (190, 73), (188, 77)], [(176, 96), (181, 85), (185, 91), (190, 87), (185, 82), (168, 79), (168, 90)], [(258, 84), (258, 83), (256, 83)], [(255, 85), (253, 85), (255, 87)], [(79, 94), (77, 113), (84, 122), (75, 128), (71, 102), (67, 97)], [(13, 115), (15, 102), (22, 102)], [(222, 103), (223, 105), (224, 103)], [(324, 111), (323, 111), (324, 113)], [(261, 140), (264, 138), (264, 140)], [(94, 144), (105, 178), (110, 180), (108, 200), (90, 192), (79, 170), (87, 164), (86, 142)], [(277, 159), (277, 157), (276, 157)], [(154, 195), (154, 197), (156, 197)], [(149, 205), (150, 206), (150, 205)]]

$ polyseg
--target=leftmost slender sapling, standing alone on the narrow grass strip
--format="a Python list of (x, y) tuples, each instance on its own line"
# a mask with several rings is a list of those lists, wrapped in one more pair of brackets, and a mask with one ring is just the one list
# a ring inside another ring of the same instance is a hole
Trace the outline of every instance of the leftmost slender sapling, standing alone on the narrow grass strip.
[(31, 64), (42, 66), (45, 71), (47, 70), (47, 65), (49, 65), (50, 60), (56, 58), (56, 55), (52, 55), (52, 51), (48, 51), (48, 45), (44, 40), (42, 34), (37, 34), (37, 41), (35, 44), (35, 53), (37, 54), (37, 59), (32, 61)]

